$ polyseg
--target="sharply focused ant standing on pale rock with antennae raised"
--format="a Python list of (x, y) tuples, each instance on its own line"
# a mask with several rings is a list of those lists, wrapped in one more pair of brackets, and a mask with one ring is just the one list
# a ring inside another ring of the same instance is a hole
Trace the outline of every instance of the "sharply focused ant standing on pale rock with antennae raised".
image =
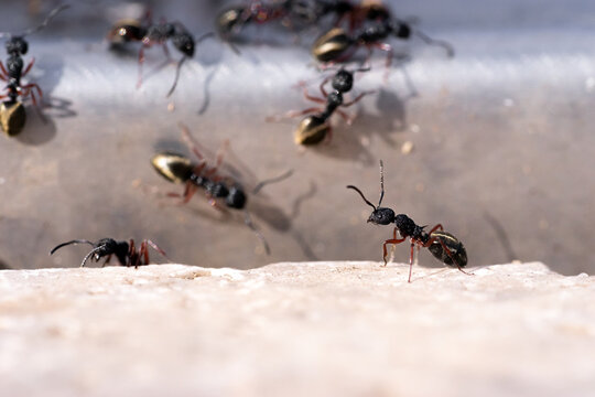
[[(428, 248), (430, 253), (432, 253), (432, 255), (443, 264), (448, 266), (456, 266), (458, 270), (468, 275), (465, 270), (463, 270), (463, 267), (467, 265), (467, 251), (465, 250), (463, 243), (461, 243), (458, 238), (456, 238), (452, 234), (444, 232), (444, 228), (441, 224), (435, 225), (434, 227), (432, 227), (430, 233), (426, 233), (424, 230), (426, 226), (416, 225), (413, 219), (411, 219), (405, 214), (394, 215), (394, 211), (392, 211), (391, 208), (380, 206), (380, 204), (382, 203), (382, 197), (385, 196), (385, 175), (382, 160), (380, 160), (380, 200), (378, 201), (377, 206), (370, 203), (358, 187), (354, 185), (348, 185), (347, 189), (355, 190), (357, 193), (359, 193), (361, 198), (364, 198), (366, 204), (374, 208), (372, 213), (368, 218), (368, 223), (372, 223), (375, 225), (390, 225), (394, 222), (392, 238), (387, 239), (382, 244), (382, 258), (385, 259), (385, 266), (387, 266), (388, 244), (397, 245), (403, 243), (407, 238), (411, 240), (408, 282), (411, 282), (411, 272), (413, 269), (413, 247), (415, 246), (418, 247), (418, 255), (420, 247)], [(397, 230), (399, 230), (399, 234), (402, 238), (397, 238)]]

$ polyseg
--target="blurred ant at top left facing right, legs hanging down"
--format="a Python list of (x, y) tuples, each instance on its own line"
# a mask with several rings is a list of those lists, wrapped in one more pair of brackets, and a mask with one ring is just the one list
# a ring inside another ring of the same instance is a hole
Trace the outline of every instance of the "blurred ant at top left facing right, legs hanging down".
[(184, 62), (194, 56), (194, 49), (203, 40), (214, 35), (213, 32), (205, 33), (197, 40), (188, 32), (188, 30), (180, 22), (160, 22), (152, 23), (150, 13), (148, 12), (144, 22), (138, 20), (120, 20), (109, 31), (107, 39), (115, 47), (130, 42), (142, 42), (139, 51), (139, 79), (137, 88), (142, 85), (142, 65), (144, 63), (144, 50), (153, 45), (161, 45), (167, 60), (171, 58), (166, 42), (171, 40), (173, 46), (182, 53), (182, 58), (177, 62), (175, 78), (172, 87), (167, 92), (166, 97), (170, 97), (180, 78), (180, 69)]

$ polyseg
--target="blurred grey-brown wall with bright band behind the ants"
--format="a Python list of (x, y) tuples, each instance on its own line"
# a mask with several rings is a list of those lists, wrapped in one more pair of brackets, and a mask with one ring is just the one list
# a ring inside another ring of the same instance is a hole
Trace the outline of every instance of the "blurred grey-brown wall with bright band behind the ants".
[[(21, 31), (57, 3), (1, 1), (0, 25)], [(138, 3), (75, 2), (29, 37), (25, 61), (36, 60), (29, 81), (51, 107), (45, 124), (29, 107), (23, 132), (0, 139), (0, 261), (78, 266), (88, 247), (47, 253), (73, 238), (108, 236), (150, 238), (174, 261), (207, 267), (381, 260), (392, 230), (366, 224), (370, 208), (345, 185), (376, 202), (383, 159), (383, 205), (420, 225), (442, 223), (464, 242), (469, 266), (541, 260), (561, 273), (593, 273), (595, 3), (387, 3), (451, 42), (455, 57), (419, 40), (390, 40), (397, 58), (389, 81), (376, 52), (372, 71), (355, 86), (378, 93), (348, 109), (357, 114), (353, 126), (334, 117), (332, 141), (303, 150), (293, 143), (299, 119), (264, 119), (312, 106), (292, 86), (305, 79), (316, 92), (322, 77), (309, 47), (322, 30), (298, 40), (277, 24), (251, 29), (258, 43), (241, 46), (240, 56), (206, 41), (166, 98), (175, 66), (163, 65), (161, 49), (148, 51), (145, 82), (137, 89), (138, 45), (115, 54), (104, 40)], [(198, 36), (230, 3), (147, 4), (155, 19), (178, 20)], [(149, 160), (159, 149), (184, 150), (181, 121), (213, 152), (229, 139), (229, 159), (248, 185), (294, 170), (249, 204), (271, 256), (240, 215), (212, 208), (201, 194), (185, 206), (165, 200), (183, 186), (161, 179)], [(394, 258), (407, 261), (409, 247), (398, 247)], [(441, 267), (424, 251), (420, 265)]]

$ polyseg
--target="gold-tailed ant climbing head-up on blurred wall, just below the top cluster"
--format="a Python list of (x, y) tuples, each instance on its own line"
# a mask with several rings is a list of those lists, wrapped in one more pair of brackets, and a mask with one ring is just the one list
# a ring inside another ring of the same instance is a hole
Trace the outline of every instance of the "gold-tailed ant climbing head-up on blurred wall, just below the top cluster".
[[(298, 116), (303, 116), (307, 114), (314, 114), (304, 118), (294, 133), (294, 141), (296, 144), (316, 144), (324, 140), (325, 137), (331, 138), (332, 128), (328, 119), (336, 111), (350, 125), (353, 118), (350, 118), (345, 111), (338, 109), (339, 107), (349, 107), (360, 100), (364, 96), (372, 94), (374, 92), (365, 92), (359, 94), (353, 100), (345, 103), (343, 94), (351, 90), (354, 86), (354, 73), (356, 72), (368, 72), (369, 67), (360, 67), (354, 72), (349, 72), (346, 68), (339, 68), (334, 76), (326, 77), (320, 85), (321, 93), (323, 98), (311, 96), (307, 93), (307, 88), (304, 86), (304, 83), (300, 85), (303, 87), (304, 97), (309, 100), (312, 100), (317, 104), (324, 104), (324, 107), (311, 107), (304, 110), (292, 110), (280, 117), (268, 117), (267, 121), (277, 121), (280, 118), (292, 118)], [(324, 86), (331, 81), (331, 86), (333, 90), (327, 93)]]

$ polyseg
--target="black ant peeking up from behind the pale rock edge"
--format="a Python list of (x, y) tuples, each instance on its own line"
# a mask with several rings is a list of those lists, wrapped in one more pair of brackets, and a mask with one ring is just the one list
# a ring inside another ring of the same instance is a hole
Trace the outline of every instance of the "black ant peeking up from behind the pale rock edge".
[(150, 239), (143, 239), (140, 248), (137, 249), (132, 238), (129, 243), (116, 242), (112, 238), (101, 238), (97, 243), (86, 239), (74, 239), (55, 246), (50, 251), (50, 255), (54, 254), (60, 248), (72, 244), (89, 244), (93, 247), (90, 253), (87, 254), (80, 262), (80, 267), (84, 267), (89, 258), (91, 258), (91, 260), (99, 261), (99, 259), (102, 257), (107, 257), (106, 261), (104, 262), (104, 266), (106, 266), (111, 259), (112, 255), (116, 255), (116, 258), (118, 258), (121, 266), (133, 266), (134, 268), (138, 268), (139, 266), (149, 265), (149, 246), (161, 254), (164, 258), (169, 259), (165, 251)]

